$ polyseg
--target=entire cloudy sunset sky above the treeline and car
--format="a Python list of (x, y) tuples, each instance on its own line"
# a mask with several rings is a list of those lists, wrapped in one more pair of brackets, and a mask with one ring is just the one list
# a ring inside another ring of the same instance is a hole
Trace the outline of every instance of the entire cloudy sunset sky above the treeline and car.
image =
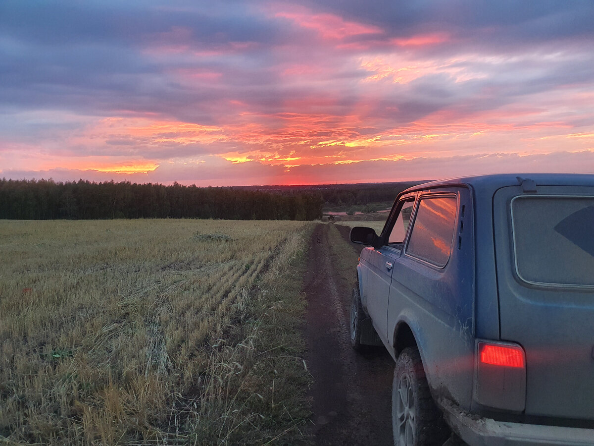
[(594, 2), (0, 1), (0, 178), (594, 172)]

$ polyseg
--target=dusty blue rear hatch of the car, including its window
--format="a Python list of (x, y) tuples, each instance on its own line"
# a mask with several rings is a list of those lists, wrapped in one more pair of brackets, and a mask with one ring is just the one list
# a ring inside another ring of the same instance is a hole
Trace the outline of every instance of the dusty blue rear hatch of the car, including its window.
[(526, 415), (594, 419), (594, 187), (494, 195), (501, 340), (526, 352)]

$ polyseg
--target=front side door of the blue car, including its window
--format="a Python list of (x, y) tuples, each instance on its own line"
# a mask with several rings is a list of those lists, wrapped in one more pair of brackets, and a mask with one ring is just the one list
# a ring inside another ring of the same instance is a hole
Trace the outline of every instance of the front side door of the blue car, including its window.
[(402, 253), (403, 243), (409, 227), (410, 216), (415, 205), (416, 193), (407, 194), (394, 205), (382, 237), (387, 244), (368, 253), (369, 277), (367, 282), (367, 312), (373, 321), (375, 331), (384, 344), (390, 341), (387, 335), (388, 296), (394, 262)]

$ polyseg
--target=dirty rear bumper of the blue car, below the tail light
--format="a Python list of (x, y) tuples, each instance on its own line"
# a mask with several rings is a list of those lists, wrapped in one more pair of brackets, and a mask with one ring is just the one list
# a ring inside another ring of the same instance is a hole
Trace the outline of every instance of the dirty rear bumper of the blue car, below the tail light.
[(452, 430), (472, 446), (594, 444), (594, 429), (500, 422), (470, 414), (448, 400), (439, 405)]

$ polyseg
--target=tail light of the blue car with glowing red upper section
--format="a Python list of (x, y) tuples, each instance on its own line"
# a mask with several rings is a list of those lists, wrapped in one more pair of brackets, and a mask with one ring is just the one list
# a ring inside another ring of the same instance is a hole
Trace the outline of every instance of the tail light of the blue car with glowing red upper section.
[(526, 354), (518, 344), (476, 343), (475, 399), (483, 406), (521, 412), (526, 407)]

